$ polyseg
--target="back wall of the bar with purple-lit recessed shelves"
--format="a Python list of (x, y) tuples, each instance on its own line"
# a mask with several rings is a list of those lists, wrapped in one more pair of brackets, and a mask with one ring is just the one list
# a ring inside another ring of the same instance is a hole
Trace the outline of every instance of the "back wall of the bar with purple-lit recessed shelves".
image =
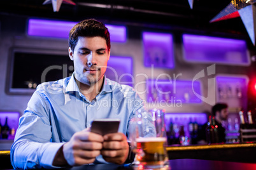
[[(53, 69), (59, 70), (62, 77), (72, 74), (72, 63), (68, 62), (68, 38), (30, 36), (27, 34), (30, 18), (4, 14), (0, 17), (0, 110), (20, 112), (22, 115), (32, 92), (42, 81), (42, 77), (36, 80), (29, 79), (28, 76), (34, 74), (39, 65), (45, 64), (43, 71), (49, 68), (49, 65), (55, 66)], [(246, 43), (250, 41), (246, 42), (244, 37), (210, 32), (206, 34), (171, 27), (163, 29), (157, 25), (121, 26), (126, 28), (126, 41), (111, 42), (113, 59), (111, 58), (109, 64), (115, 70), (109, 69), (107, 77), (132, 86), (145, 101), (148, 109), (162, 108), (168, 114), (201, 114), (210, 112), (211, 105), (217, 101), (229, 102), (229, 98), (238, 103), (229, 108), (231, 114), (237, 114), (239, 109), (246, 108), (246, 86), (255, 75), (252, 73), (253, 65), (250, 62), (251, 51), (246, 48)], [(192, 41), (195, 37), (189, 37), (189, 34), (198, 36), (196, 41)], [(213, 38), (213, 45), (210, 42), (211, 37), (221, 38)], [(200, 41), (201, 39), (203, 40)], [(201, 44), (194, 44), (197, 41)], [(235, 48), (228, 46), (232, 44), (229, 41), (237, 42), (234, 44)], [(205, 46), (202, 46), (203, 44)], [(195, 48), (191, 48), (192, 46)], [(218, 49), (221, 49), (220, 53), (217, 52)], [(27, 54), (38, 55), (28, 59), (24, 54), (27, 57)], [(47, 58), (49, 55), (62, 59)], [(218, 60), (213, 60), (214, 55), (218, 56)], [(18, 60), (20, 62), (17, 62)], [(22, 62), (25, 60), (27, 62)], [(119, 74), (114, 76), (116, 73)], [(48, 75), (58, 77), (59, 73), (51, 72)], [(53, 81), (52, 77), (47, 76), (43, 80)], [(239, 81), (232, 84), (232, 79), (230, 85), (229, 82), (223, 81), (218, 84), (216, 77), (238, 77)], [(23, 84), (18, 85), (18, 82)]]

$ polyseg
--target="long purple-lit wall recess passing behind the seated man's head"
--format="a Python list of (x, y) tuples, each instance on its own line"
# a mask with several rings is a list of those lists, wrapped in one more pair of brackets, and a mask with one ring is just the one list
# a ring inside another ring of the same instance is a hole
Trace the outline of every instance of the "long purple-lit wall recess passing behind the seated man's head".
[[(76, 22), (57, 20), (29, 19), (27, 34), (29, 36), (57, 37), (68, 39), (69, 30)], [(126, 41), (126, 27), (119, 25), (107, 25), (110, 31), (110, 39), (113, 42)]]

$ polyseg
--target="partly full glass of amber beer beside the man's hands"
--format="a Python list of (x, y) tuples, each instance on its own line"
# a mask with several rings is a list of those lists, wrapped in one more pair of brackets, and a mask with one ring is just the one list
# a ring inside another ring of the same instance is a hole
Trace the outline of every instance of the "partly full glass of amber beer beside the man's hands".
[(135, 169), (169, 169), (162, 110), (138, 110), (129, 123), (129, 140), (136, 154)]

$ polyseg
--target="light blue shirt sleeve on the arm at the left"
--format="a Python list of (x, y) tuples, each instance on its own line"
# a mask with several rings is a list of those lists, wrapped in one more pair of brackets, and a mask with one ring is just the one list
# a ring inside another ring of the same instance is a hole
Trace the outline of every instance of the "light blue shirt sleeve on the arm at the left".
[(53, 167), (55, 154), (64, 143), (52, 143), (49, 108), (36, 91), (28, 103), (11, 147), (11, 164), (15, 169)]

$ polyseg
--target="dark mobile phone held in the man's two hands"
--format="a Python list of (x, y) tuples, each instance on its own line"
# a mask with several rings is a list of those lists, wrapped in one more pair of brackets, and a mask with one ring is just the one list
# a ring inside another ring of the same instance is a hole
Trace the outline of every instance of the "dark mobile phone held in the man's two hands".
[(120, 119), (94, 119), (90, 131), (104, 136), (108, 133), (117, 133)]

